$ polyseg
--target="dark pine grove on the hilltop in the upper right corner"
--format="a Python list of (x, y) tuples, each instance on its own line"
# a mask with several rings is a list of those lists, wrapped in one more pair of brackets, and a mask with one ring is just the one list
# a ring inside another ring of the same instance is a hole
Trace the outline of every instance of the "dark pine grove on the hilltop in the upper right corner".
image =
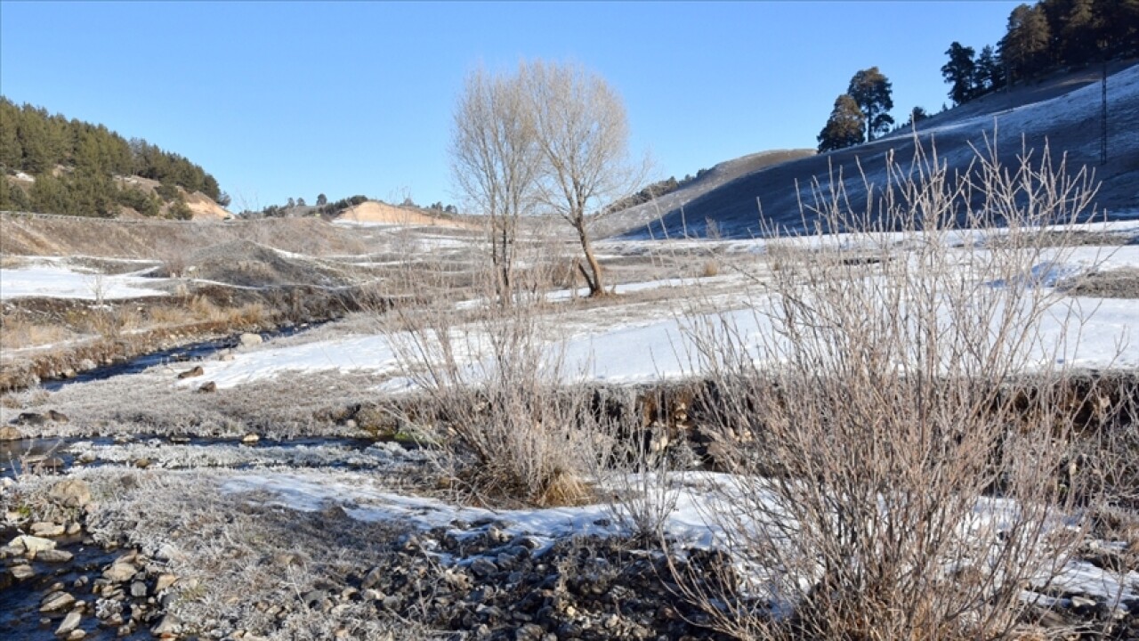
[(942, 68), (949, 97), (967, 103), (1062, 68), (1139, 55), (1139, 0), (1038, 0), (1008, 17), (1005, 36), (977, 56), (953, 42)]

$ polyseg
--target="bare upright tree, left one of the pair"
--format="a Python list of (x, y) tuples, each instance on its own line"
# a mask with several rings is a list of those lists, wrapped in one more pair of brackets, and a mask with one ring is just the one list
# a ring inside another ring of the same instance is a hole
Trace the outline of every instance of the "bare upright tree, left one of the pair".
[(454, 108), (451, 170), (487, 218), (495, 293), (503, 303), (514, 285), (518, 217), (534, 204), (540, 167), (528, 106), (519, 75), (480, 67), (467, 75)]

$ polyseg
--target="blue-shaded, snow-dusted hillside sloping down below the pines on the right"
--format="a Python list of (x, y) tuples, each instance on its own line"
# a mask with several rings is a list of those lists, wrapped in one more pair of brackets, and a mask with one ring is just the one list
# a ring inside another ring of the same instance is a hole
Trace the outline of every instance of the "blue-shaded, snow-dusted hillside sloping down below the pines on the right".
[[(1100, 211), (1106, 210), (1111, 218), (1139, 216), (1139, 65), (1133, 60), (1116, 64), (1108, 78), (1109, 157), (1103, 167), (1099, 119), (1098, 70), (1088, 68), (947, 111), (921, 121), (918, 133), (923, 148), (929, 151), (935, 145), (939, 159), (951, 170), (965, 170), (975, 157), (973, 146), (984, 149), (986, 137), (997, 140), (999, 157), (1006, 164), (1017, 162), (1022, 140), (1034, 149), (1036, 159), (1047, 143), (1054, 159), (1066, 154), (1071, 172), (1084, 165), (1095, 168), (1096, 179), (1101, 181), (1096, 201)], [(796, 181), (803, 188), (814, 179), (826, 182), (830, 171), (836, 176), (841, 172), (851, 200), (858, 202), (866, 193), (859, 168), (872, 185), (883, 185), (888, 152), (908, 164), (915, 155), (912, 132), (899, 131), (857, 147), (751, 169), (712, 188), (670, 194), (615, 214), (641, 222), (624, 232), (614, 226), (609, 235), (704, 236), (705, 220), (714, 220), (720, 235), (749, 237), (761, 232), (757, 202), (768, 224), (795, 230), (802, 227)], [(654, 210), (661, 213), (645, 220)]]

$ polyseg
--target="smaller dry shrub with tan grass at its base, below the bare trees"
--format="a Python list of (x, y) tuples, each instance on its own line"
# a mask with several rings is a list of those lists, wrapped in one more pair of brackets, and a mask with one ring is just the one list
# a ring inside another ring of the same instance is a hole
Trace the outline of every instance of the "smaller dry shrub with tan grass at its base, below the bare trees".
[[(424, 397), (408, 422), (432, 424), (440, 466), (478, 503), (576, 504), (590, 492), (584, 390), (562, 387), (531, 305), (493, 307), (462, 325), (420, 314), (390, 334)], [(556, 350), (555, 350), (556, 351)]]

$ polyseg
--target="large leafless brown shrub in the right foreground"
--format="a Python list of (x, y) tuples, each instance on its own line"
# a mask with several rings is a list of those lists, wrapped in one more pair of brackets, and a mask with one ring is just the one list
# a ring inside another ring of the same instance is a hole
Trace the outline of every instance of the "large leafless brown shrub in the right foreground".
[[(892, 164), (865, 209), (841, 175), (817, 182), (803, 211), (817, 232), (770, 244), (769, 295), (746, 318), (694, 319), (734, 476), (707, 508), (727, 554), (677, 578), (713, 627), (1003, 638), (1031, 619), (1023, 589), (1046, 590), (1075, 552), (1087, 526), (1058, 391), (1073, 372), (1058, 363), (1080, 320), (1032, 277), (1056, 244), (1033, 229), (1073, 222), (1093, 189), (1047, 151), (994, 159), (961, 176), (935, 153)], [(1001, 243), (954, 248), (959, 227), (994, 222)], [(1058, 343), (1046, 315), (1064, 324)], [(767, 330), (745, 339), (753, 323)]]

